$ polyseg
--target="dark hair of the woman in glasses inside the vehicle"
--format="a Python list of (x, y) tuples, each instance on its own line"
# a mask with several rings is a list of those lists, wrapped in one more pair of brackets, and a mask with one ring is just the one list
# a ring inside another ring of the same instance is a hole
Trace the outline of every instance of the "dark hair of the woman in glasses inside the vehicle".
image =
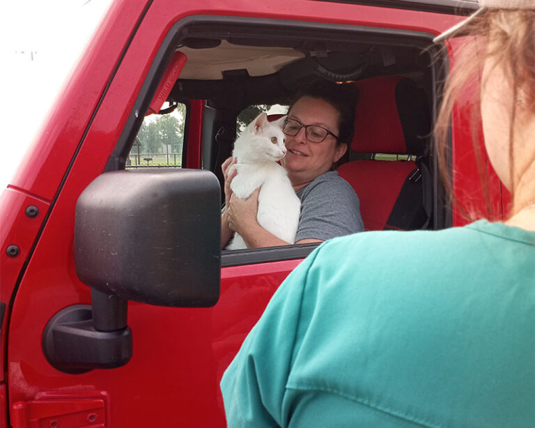
[(303, 97), (318, 98), (328, 102), (340, 113), (338, 123), (339, 138), (336, 144), (350, 144), (355, 132), (355, 106), (357, 105), (358, 91), (354, 85), (335, 84), (332, 82), (318, 82), (297, 91), (295, 98), (288, 107), (291, 111), (295, 102)]

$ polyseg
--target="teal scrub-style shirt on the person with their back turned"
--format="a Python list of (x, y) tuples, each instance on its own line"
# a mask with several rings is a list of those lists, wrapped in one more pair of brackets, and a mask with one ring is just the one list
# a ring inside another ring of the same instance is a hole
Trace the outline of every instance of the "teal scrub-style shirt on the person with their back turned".
[(479, 221), (329, 240), (221, 388), (229, 427), (535, 427), (535, 233)]

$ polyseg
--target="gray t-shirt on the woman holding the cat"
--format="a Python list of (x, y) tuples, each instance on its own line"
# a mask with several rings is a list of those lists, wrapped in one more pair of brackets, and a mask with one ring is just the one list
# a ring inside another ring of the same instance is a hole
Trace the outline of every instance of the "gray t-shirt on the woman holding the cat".
[(359, 198), (351, 185), (336, 171), (329, 171), (297, 191), (301, 215), (295, 242), (302, 239), (327, 240), (364, 231)]

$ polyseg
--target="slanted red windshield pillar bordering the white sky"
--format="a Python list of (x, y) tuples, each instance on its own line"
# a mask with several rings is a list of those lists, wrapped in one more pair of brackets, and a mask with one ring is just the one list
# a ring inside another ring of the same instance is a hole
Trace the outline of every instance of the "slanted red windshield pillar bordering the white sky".
[[(11, 182), (52, 200), (148, 0), (114, 1)], [(118, 106), (121, 108), (121, 106)]]

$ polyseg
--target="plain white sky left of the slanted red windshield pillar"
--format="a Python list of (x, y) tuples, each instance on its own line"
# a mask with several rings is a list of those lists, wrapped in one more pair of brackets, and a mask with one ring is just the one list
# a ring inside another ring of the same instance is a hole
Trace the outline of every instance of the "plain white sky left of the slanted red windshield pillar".
[(0, 14), (0, 193), (111, 0), (6, 1)]

